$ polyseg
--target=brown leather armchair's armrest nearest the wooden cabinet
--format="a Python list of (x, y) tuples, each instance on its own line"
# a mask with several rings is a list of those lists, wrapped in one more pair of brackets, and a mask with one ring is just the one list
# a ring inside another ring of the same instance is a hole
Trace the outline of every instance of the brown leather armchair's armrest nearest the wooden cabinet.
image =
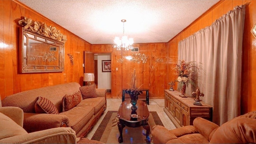
[(211, 139), (211, 133), (215, 132), (216, 128), (219, 128), (217, 124), (214, 124), (213, 122), (210, 122), (209, 120), (200, 117), (194, 119), (193, 125), (196, 128), (196, 130), (200, 134), (202, 134), (208, 141), (210, 141)]

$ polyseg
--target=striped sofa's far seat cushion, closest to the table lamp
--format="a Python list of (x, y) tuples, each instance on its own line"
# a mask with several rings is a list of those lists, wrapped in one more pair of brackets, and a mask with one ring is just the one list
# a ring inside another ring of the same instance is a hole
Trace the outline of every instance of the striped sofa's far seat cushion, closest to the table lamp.
[(97, 114), (98, 111), (104, 106), (106, 103), (105, 98), (96, 97), (96, 98), (86, 98), (82, 100), (77, 106), (86, 106), (94, 108), (94, 114)]

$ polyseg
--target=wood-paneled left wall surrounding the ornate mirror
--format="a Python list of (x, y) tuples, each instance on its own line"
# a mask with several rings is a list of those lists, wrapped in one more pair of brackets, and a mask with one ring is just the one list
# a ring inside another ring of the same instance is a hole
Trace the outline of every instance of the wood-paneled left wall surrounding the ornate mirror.
[[(0, 95), (8, 95), (67, 82), (83, 84), (84, 50), (90, 51), (91, 44), (68, 30), (24, 6), (16, 0), (0, 0)], [(22, 16), (54, 26), (67, 36), (65, 43), (64, 72), (19, 74), (18, 73), (18, 20)], [(74, 57), (71, 65), (68, 54)], [(93, 58), (92, 58), (93, 62)]]

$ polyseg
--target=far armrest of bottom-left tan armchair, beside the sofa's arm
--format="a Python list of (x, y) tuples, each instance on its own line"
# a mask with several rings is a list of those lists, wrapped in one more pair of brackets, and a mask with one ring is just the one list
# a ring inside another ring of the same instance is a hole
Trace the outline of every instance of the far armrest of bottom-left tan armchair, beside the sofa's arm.
[(11, 118), (21, 127), (23, 126), (23, 110), (21, 108), (14, 106), (0, 107), (0, 112)]

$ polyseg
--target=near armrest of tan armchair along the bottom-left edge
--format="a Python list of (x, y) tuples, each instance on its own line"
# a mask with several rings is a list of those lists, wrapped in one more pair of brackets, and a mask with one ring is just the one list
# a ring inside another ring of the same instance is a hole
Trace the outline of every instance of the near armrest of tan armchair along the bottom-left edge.
[(6, 144), (76, 144), (76, 132), (72, 128), (51, 128), (0, 140)]

